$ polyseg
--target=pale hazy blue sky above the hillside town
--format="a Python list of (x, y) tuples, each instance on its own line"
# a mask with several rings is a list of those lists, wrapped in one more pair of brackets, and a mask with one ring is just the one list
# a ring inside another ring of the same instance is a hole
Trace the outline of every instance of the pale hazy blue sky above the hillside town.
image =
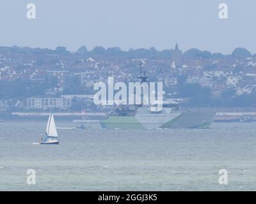
[[(28, 3), (35, 20), (26, 17)], [(220, 3), (227, 20), (218, 18)], [(0, 46), (163, 50), (177, 41), (182, 50), (256, 53), (255, 11), (255, 0), (1, 0)]]

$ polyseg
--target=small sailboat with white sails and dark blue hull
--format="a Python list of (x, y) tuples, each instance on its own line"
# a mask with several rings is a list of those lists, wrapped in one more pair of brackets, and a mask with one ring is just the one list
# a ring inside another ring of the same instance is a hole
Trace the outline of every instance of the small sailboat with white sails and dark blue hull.
[(54, 116), (51, 112), (46, 126), (45, 137), (40, 140), (40, 143), (41, 145), (58, 145), (60, 143), (58, 138), (59, 135), (57, 133)]

